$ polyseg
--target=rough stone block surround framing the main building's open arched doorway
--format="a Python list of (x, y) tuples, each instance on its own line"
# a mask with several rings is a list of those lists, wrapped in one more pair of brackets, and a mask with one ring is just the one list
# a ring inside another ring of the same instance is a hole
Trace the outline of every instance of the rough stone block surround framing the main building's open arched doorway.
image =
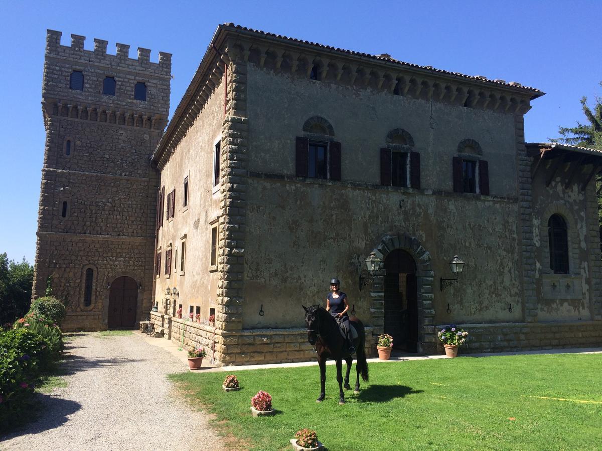
[[(416, 262), (416, 281), (418, 286), (418, 352), (431, 354), (435, 352), (435, 308), (433, 306), (433, 281), (434, 274), (430, 264), (430, 253), (420, 240), (407, 233), (387, 234), (380, 239), (374, 248), (374, 253), (385, 260), (392, 251), (400, 249), (408, 252)], [(381, 270), (374, 276), (370, 290), (372, 324), (374, 339), (383, 333), (385, 321), (383, 287), (384, 271)]]

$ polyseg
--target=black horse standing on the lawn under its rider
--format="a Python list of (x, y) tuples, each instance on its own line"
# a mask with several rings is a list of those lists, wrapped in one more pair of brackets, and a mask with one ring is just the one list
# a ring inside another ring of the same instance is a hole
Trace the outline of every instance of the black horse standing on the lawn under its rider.
[[(339, 383), (339, 404), (345, 403), (345, 394), (343, 393), (343, 375), (341, 374), (341, 366), (343, 358), (347, 362), (347, 373), (345, 374), (346, 390), (350, 390), (349, 372), (353, 357), (349, 355), (347, 349), (347, 341), (341, 335), (337, 320), (332, 317), (326, 309), (320, 305), (312, 305), (305, 307), (305, 323), (307, 325), (307, 337), (310, 345), (315, 345), (315, 350), (318, 353), (318, 365), (320, 365), (320, 383), (321, 390), (317, 402), (324, 400), (324, 382), (326, 382), (326, 359), (332, 358), (337, 362), (337, 381)], [(366, 333), (364, 325), (359, 319), (351, 321), (355, 330), (358, 331), (358, 338), (353, 340), (353, 346), (357, 350), (357, 377), (355, 379), (355, 393), (359, 393), (359, 374), (361, 373), (364, 382), (368, 381), (368, 363), (366, 361), (366, 353), (364, 345), (366, 342)]]

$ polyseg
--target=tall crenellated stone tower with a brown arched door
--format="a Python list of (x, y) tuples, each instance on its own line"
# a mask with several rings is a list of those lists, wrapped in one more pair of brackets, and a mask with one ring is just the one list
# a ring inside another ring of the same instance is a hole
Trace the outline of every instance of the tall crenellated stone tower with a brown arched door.
[(171, 55), (48, 30), (46, 129), (33, 296), (68, 301), (64, 330), (134, 327), (152, 305), (157, 188)]

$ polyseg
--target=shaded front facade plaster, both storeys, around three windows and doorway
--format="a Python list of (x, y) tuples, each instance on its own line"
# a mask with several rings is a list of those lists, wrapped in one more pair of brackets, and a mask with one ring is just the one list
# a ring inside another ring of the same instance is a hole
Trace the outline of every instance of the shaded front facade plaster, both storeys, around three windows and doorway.
[[(365, 259), (386, 233), (415, 236), (431, 254), (434, 321), (521, 321), (512, 115), (291, 82), (248, 66), (252, 178), (244, 328), (302, 327), (299, 304), (324, 304), (334, 276), (357, 316), (371, 324), (369, 289), (359, 292), (351, 260), (355, 254)], [(314, 115), (329, 120), (341, 142), (342, 182), (294, 177), (294, 139)], [(379, 149), (396, 128), (411, 133), (421, 153), (421, 189), (379, 185)], [(451, 192), (452, 157), (465, 138), (478, 141), (489, 161), (490, 196)], [(439, 277), (452, 277), (448, 262), (455, 254), (467, 263), (465, 272), (441, 293)]]

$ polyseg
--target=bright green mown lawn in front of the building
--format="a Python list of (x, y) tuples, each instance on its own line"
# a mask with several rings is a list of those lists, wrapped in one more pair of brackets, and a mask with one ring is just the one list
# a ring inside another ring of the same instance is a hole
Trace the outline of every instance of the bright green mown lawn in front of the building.
[[(343, 406), (334, 366), (326, 368), (322, 403), (315, 402), (317, 366), (232, 372), (243, 389), (230, 393), (221, 385), (231, 373), (170, 378), (194, 405), (216, 414), (218, 428), (255, 450), (290, 447), (302, 428), (315, 429), (329, 450), (602, 449), (602, 354), (369, 366), (370, 382), (359, 395), (346, 391)], [(272, 394), (276, 416), (251, 416), (259, 390)]]

